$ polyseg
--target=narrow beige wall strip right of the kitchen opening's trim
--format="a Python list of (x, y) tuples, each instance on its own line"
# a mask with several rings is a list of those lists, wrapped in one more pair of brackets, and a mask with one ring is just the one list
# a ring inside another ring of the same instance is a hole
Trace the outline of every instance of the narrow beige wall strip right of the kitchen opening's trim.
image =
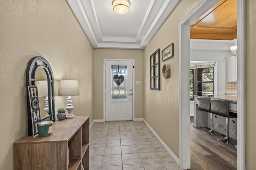
[(246, 0), (246, 169), (256, 167), (256, 1)]

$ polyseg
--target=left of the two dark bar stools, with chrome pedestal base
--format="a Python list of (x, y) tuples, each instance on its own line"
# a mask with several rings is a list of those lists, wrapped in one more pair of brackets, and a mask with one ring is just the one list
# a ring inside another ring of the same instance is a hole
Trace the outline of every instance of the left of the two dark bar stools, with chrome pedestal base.
[(210, 131), (204, 131), (204, 133), (207, 134), (207, 135), (221, 136), (221, 133), (218, 133), (218, 132), (213, 130), (213, 127), (220, 127), (220, 125), (217, 125), (217, 124), (213, 123), (213, 114), (211, 113), (210, 98), (198, 96), (197, 101), (198, 101), (198, 109), (199, 110), (206, 111), (206, 112), (210, 113), (211, 130)]

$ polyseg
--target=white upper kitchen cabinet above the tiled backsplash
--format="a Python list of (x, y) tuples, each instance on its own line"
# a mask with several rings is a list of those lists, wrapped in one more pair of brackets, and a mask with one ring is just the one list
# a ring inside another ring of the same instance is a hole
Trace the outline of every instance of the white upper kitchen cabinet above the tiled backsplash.
[(237, 81), (237, 56), (226, 58), (226, 82)]

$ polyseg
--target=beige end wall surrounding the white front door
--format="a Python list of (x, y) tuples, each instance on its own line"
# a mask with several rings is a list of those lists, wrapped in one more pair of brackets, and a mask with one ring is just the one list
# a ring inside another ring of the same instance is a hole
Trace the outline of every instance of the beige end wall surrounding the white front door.
[(94, 119), (103, 119), (103, 60), (134, 59), (135, 85), (134, 117), (143, 118), (143, 51), (125, 49), (94, 49)]

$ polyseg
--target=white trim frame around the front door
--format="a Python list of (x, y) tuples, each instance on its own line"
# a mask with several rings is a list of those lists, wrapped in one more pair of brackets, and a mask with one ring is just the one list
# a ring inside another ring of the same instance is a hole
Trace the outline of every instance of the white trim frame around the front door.
[[(132, 61), (132, 64), (134, 66), (134, 59), (104, 59), (103, 60), (103, 121), (106, 121), (106, 61)], [(134, 121), (134, 96), (135, 96), (135, 72), (134, 69), (132, 69), (132, 120)]]

